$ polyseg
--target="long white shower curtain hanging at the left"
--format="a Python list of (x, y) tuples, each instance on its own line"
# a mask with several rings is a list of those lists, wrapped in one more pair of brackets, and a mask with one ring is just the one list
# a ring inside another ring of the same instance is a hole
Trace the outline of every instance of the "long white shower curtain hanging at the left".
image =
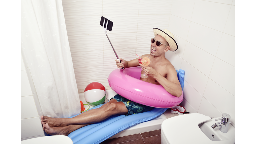
[(43, 115), (80, 113), (80, 100), (61, 0), (22, 0), (22, 51)]

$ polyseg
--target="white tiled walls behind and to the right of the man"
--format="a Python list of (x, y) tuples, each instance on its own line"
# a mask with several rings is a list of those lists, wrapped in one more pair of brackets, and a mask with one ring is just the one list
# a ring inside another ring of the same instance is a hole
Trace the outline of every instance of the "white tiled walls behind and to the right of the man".
[[(235, 0), (62, 0), (78, 89), (91, 82), (108, 86), (116, 56), (99, 25), (113, 21), (108, 36), (120, 58), (149, 53), (153, 28), (174, 34), (178, 50), (166, 58), (185, 70), (184, 100), (188, 112), (231, 115), (235, 125)], [(222, 103), (216, 99), (223, 99)], [(227, 102), (225, 106), (223, 103)]]

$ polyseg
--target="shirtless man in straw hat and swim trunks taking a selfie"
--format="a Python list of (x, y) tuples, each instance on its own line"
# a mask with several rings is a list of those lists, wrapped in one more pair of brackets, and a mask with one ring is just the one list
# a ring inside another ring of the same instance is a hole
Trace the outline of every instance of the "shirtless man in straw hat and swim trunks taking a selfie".
[[(116, 65), (118, 68), (128, 68), (141, 66), (141, 74), (145, 72), (148, 78), (141, 78), (141, 80), (162, 85), (164, 89), (173, 96), (180, 97), (182, 95), (182, 89), (180, 82), (177, 77), (177, 72), (173, 65), (165, 58), (165, 52), (168, 50), (175, 51), (178, 46), (173, 39), (173, 34), (168, 30), (160, 30), (157, 28), (153, 29), (155, 38), (151, 39), (150, 54), (146, 56), (150, 57), (150, 65), (143, 66), (139, 64), (137, 59), (131, 61), (125, 61), (120, 58), (120, 61), (116, 60)], [(41, 122), (43, 124), (43, 129), (47, 134), (50, 135), (68, 135), (69, 133), (84, 127), (86, 125), (100, 122), (106, 118), (116, 115), (125, 114), (130, 115), (134, 113), (141, 113), (150, 111), (153, 107), (145, 106), (142, 104), (135, 103), (131, 101), (129, 105), (125, 104), (128, 100), (120, 95), (116, 95), (109, 102), (97, 109), (92, 109), (79, 114), (73, 118), (51, 118), (47, 116), (41, 116)], [(140, 111), (134, 109), (131, 106), (133, 104), (139, 105), (141, 107)]]

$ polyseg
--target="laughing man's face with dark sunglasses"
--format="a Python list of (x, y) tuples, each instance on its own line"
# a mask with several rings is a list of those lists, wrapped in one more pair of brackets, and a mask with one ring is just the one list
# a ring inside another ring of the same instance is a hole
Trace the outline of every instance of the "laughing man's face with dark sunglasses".
[[(164, 50), (167, 47), (165, 45), (168, 45), (167, 41), (160, 35), (156, 35), (154, 39), (155, 39), (155, 42), (151, 43), (151, 45), (150, 45), (150, 48), (151, 48), (150, 55), (159, 56), (159, 55), (164, 54)], [(157, 46), (156, 41), (161, 42), (162, 45)], [(165, 44), (165, 45), (163, 45), (163, 44)]]

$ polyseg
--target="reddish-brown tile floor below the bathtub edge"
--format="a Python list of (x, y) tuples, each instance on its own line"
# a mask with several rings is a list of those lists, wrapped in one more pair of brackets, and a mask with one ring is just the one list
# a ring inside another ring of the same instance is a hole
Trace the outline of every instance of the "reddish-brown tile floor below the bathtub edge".
[(107, 139), (101, 144), (161, 144), (161, 130)]

